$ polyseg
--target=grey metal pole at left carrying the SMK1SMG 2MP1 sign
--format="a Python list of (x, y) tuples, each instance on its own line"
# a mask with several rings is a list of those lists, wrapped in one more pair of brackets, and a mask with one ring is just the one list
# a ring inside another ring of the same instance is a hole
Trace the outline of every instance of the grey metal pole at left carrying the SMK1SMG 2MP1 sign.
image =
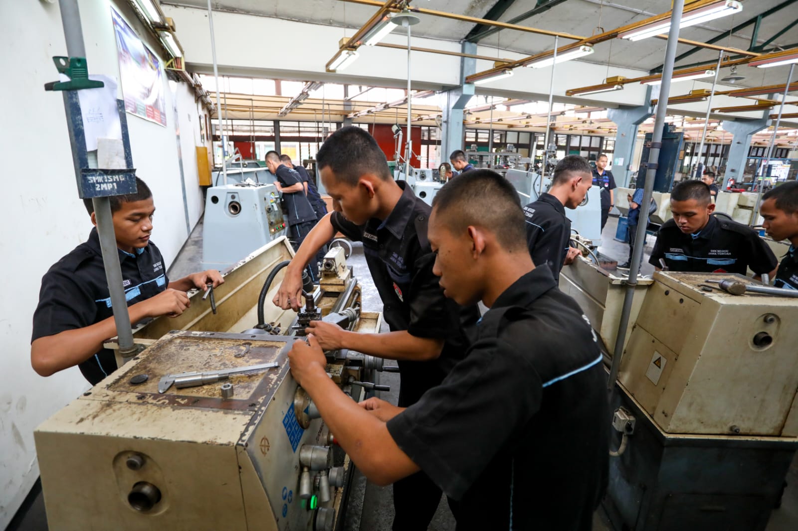
[[(78, 10), (77, 0), (60, 0), (59, 7), (61, 8), (61, 23), (64, 26), (66, 54), (69, 57), (86, 57), (81, 12)], [(81, 124), (82, 127), (82, 118), (81, 116), (73, 116), (72, 105), (69, 104), (70, 97), (69, 92), (64, 91), (64, 106), (66, 108), (67, 125), (70, 129), (69, 141), (72, 144), (73, 153), (78, 151), (85, 152), (85, 145), (78, 145), (71, 132), (73, 124)], [(75, 161), (76, 175), (80, 175), (81, 167), (77, 163), (78, 159), (73, 156), (73, 160)], [(97, 157), (88, 157), (88, 160), (89, 167), (97, 167)], [(122, 270), (119, 265), (117, 236), (113, 230), (111, 201), (107, 197), (95, 197), (92, 199), (92, 204), (94, 217), (97, 221), (97, 235), (100, 237), (105, 280), (108, 282), (108, 290), (111, 297), (113, 322), (117, 326), (119, 352), (122, 356), (128, 357), (133, 352), (136, 352), (136, 347), (133, 346), (128, 301), (124, 298), (124, 288), (122, 287)]]

